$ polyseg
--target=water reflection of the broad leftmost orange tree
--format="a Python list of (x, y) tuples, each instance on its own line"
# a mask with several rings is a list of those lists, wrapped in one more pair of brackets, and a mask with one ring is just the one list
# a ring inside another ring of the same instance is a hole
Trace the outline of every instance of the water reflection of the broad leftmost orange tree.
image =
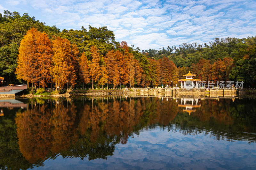
[(44, 159), (52, 147), (51, 113), (46, 107), (41, 105), (16, 114), (20, 152), (31, 163)]

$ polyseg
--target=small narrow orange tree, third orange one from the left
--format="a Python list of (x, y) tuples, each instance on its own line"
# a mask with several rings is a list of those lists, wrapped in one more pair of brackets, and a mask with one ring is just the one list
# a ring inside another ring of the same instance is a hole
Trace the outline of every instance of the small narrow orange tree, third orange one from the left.
[(79, 60), (79, 77), (85, 84), (90, 82), (90, 69), (88, 64), (90, 64), (88, 58), (83, 52)]

